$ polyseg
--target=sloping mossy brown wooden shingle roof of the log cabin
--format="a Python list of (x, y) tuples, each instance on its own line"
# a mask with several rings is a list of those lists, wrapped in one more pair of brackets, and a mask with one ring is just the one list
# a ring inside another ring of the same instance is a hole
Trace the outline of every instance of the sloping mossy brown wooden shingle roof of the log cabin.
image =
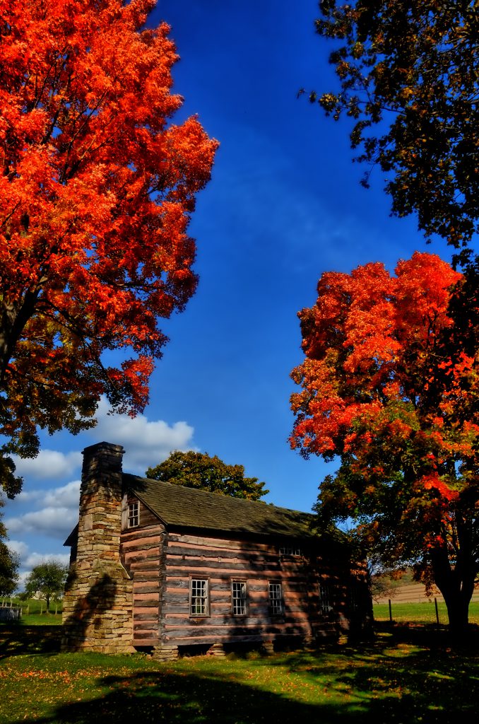
[(125, 487), (168, 528), (221, 531), (247, 536), (309, 538), (311, 513), (277, 508), (123, 473)]

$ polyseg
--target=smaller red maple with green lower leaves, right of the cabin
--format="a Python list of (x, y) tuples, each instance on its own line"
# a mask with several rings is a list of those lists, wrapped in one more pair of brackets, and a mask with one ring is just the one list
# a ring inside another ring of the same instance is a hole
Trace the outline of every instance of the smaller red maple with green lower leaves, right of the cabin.
[[(391, 566), (435, 582), (449, 622), (467, 623), (479, 572), (477, 284), (415, 253), (323, 274), (300, 312), (305, 361), (292, 447), (336, 456), (324, 522), (352, 520)], [(477, 279), (476, 279), (477, 281)]]

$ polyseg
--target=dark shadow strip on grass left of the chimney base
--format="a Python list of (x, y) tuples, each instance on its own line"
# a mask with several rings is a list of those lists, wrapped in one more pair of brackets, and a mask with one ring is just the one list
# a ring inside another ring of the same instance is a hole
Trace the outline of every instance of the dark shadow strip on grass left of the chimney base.
[(62, 626), (0, 626), (0, 660), (20, 654), (56, 654), (62, 641)]

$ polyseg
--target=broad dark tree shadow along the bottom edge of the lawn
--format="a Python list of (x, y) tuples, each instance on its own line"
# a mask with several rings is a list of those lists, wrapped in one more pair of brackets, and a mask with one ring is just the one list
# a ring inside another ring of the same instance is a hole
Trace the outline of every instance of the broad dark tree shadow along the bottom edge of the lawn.
[[(381, 673), (378, 671), (378, 676)], [(334, 686), (340, 684), (341, 681), (336, 681)], [(321, 703), (308, 704), (298, 702), (291, 694), (274, 694), (244, 683), (172, 671), (109, 676), (98, 680), (98, 689), (98, 695), (90, 701), (60, 705), (44, 717), (35, 715), (33, 710), (33, 716), (19, 717), (15, 722), (95, 724), (134, 717), (142, 724), (297, 724), (300, 721), (310, 724), (338, 724), (339, 721), (345, 724), (419, 721), (450, 724), (452, 713), (457, 714), (455, 707), (441, 709), (442, 704), (425, 701), (424, 694), (420, 695), (417, 690), (414, 694), (404, 694), (401, 699), (396, 691), (383, 691), (381, 698), (375, 699), (367, 688), (353, 695), (344, 689), (343, 700), (330, 704), (325, 696)], [(462, 709), (462, 712), (469, 711)]]

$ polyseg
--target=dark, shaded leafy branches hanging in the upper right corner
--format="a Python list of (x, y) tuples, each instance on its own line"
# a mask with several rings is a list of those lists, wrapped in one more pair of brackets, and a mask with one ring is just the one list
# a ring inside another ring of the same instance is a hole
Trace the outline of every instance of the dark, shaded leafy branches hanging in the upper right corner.
[[(350, 117), (357, 159), (386, 174), (397, 216), (466, 247), (479, 220), (479, 7), (470, 0), (320, 2), (339, 89), (310, 94)], [(467, 258), (463, 249), (462, 261)]]

